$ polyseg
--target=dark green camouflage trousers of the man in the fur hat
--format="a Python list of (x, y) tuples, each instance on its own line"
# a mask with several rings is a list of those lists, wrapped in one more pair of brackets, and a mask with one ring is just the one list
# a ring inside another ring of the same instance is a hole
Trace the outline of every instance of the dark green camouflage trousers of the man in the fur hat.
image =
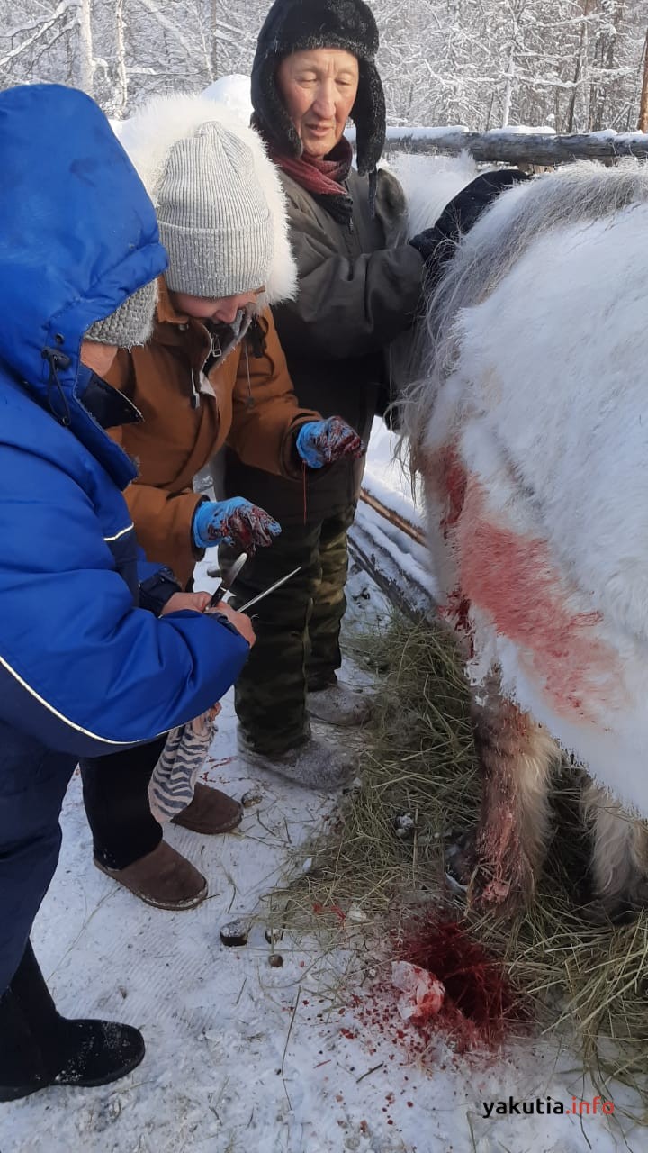
[[(236, 714), (255, 752), (272, 755), (309, 734), (307, 691), (336, 683), (346, 610), (347, 529), (355, 505), (323, 523), (288, 526), (248, 560), (232, 604), (244, 604), (279, 576), (301, 572), (251, 609), (256, 645), (236, 683)], [(235, 551), (219, 551), (224, 570)]]

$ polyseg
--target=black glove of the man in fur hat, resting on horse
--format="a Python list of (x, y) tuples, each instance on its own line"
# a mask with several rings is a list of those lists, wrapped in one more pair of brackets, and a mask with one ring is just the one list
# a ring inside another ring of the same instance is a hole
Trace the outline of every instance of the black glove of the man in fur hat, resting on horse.
[(409, 243), (421, 253), (428, 277), (436, 278), (454, 255), (461, 236), (470, 231), (496, 196), (521, 180), (529, 180), (529, 176), (519, 168), (485, 172), (446, 204), (434, 228), (425, 228), (412, 238)]

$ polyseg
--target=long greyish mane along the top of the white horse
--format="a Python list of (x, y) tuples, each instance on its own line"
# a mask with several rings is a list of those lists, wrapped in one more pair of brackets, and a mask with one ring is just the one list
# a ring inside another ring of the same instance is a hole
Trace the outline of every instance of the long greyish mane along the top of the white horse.
[(538, 235), (570, 225), (587, 227), (646, 202), (648, 164), (626, 159), (604, 167), (580, 160), (504, 193), (484, 212), (461, 240), (421, 323), (416, 379), (399, 402), (402, 435), (414, 457), (459, 354), (459, 312), (485, 300)]

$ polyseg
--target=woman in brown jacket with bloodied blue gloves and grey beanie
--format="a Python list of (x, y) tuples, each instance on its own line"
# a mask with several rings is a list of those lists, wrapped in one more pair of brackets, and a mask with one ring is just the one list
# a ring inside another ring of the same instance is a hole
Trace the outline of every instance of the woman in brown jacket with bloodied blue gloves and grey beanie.
[[(205, 98), (180, 96), (129, 121), (122, 143), (156, 205), (169, 267), (152, 340), (121, 352), (107, 375), (143, 417), (114, 437), (140, 468), (126, 492), (140, 543), (184, 587), (204, 548), (254, 551), (280, 532), (241, 497), (194, 492), (225, 440), (250, 465), (294, 480), (360, 455), (362, 444), (340, 419), (297, 407), (269, 308), (294, 289), (295, 271), (278, 176), (256, 133)], [(205, 898), (206, 880), (163, 841), (149, 807), (164, 744), (115, 754), (110, 773), (105, 760), (83, 761), (85, 808), (98, 868), (149, 904), (189, 909)], [(240, 820), (236, 801), (203, 784), (174, 817), (203, 835)]]

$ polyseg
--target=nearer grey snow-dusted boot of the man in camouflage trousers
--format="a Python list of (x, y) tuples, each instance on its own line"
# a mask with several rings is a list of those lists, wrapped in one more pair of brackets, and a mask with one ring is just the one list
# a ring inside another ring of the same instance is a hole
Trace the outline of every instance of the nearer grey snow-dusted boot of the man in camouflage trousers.
[(356, 758), (347, 749), (312, 737), (287, 753), (255, 753), (244, 739), (239, 737), (239, 754), (251, 770), (263, 769), (274, 776), (285, 777), (304, 789), (327, 792), (341, 789), (353, 781), (357, 773)]

